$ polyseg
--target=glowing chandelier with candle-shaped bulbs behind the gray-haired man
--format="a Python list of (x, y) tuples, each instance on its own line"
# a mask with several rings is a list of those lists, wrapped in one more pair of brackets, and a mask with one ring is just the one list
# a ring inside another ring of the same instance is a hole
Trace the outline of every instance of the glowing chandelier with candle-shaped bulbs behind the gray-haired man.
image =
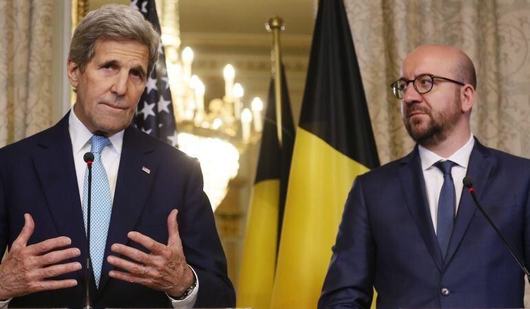
[(227, 64), (220, 72), (224, 95), (205, 104), (204, 83), (192, 71), (193, 50), (180, 50), (178, 0), (156, 0), (156, 5), (179, 149), (200, 161), (204, 192), (215, 211), (237, 176), (240, 154), (261, 136), (263, 102), (256, 97), (250, 108), (244, 107), (244, 88), (235, 82), (235, 68)]

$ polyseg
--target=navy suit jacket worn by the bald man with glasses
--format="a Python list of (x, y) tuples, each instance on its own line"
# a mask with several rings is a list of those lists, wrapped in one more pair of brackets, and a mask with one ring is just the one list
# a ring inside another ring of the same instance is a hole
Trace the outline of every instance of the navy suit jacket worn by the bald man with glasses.
[[(467, 175), (485, 211), (529, 265), (530, 160), (476, 141)], [(357, 177), (319, 308), (370, 308), (372, 286), (378, 309), (523, 307), (523, 272), (465, 189), (442, 260), (417, 147)]]

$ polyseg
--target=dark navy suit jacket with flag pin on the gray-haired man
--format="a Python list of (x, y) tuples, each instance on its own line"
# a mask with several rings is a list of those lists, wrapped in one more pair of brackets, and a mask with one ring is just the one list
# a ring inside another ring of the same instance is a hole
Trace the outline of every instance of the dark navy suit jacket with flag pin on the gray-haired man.
[[(143, 171), (143, 167), (151, 172)], [(128, 241), (129, 231), (138, 231), (166, 244), (171, 209), (179, 210), (177, 220), (184, 255), (200, 282), (195, 306), (235, 305), (235, 292), (226, 275), (226, 259), (202, 185), (198, 161), (132, 126), (125, 129), (99, 289), (92, 283), (94, 307), (171, 307), (165, 293), (109, 278), (113, 266), (106, 261), (114, 243), (147, 252)], [(81, 250), (80, 257), (68, 262), (85, 265), (85, 227), (68, 115), (52, 128), (0, 150), (1, 252), (19, 235), (25, 213), (35, 221), (28, 244), (68, 236), (72, 247)], [(82, 307), (85, 271), (57, 277), (67, 278), (77, 279), (78, 285), (16, 297), (10, 307)]]

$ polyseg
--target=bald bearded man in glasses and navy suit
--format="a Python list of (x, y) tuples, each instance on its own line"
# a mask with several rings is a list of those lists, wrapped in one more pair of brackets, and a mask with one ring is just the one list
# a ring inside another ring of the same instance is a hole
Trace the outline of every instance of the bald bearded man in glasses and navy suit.
[(454, 47), (427, 45), (392, 84), (417, 142), (357, 177), (346, 201), (319, 308), (522, 308), (522, 270), (463, 188), (530, 262), (530, 161), (471, 135), (476, 74)]

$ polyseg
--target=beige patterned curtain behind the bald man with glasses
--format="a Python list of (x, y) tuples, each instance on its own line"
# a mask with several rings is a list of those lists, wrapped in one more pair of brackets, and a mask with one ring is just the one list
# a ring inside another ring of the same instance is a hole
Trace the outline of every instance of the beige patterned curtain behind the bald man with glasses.
[(530, 1), (344, 0), (381, 163), (412, 150), (390, 83), (418, 45), (463, 49), (478, 76), (471, 130), (530, 158)]

